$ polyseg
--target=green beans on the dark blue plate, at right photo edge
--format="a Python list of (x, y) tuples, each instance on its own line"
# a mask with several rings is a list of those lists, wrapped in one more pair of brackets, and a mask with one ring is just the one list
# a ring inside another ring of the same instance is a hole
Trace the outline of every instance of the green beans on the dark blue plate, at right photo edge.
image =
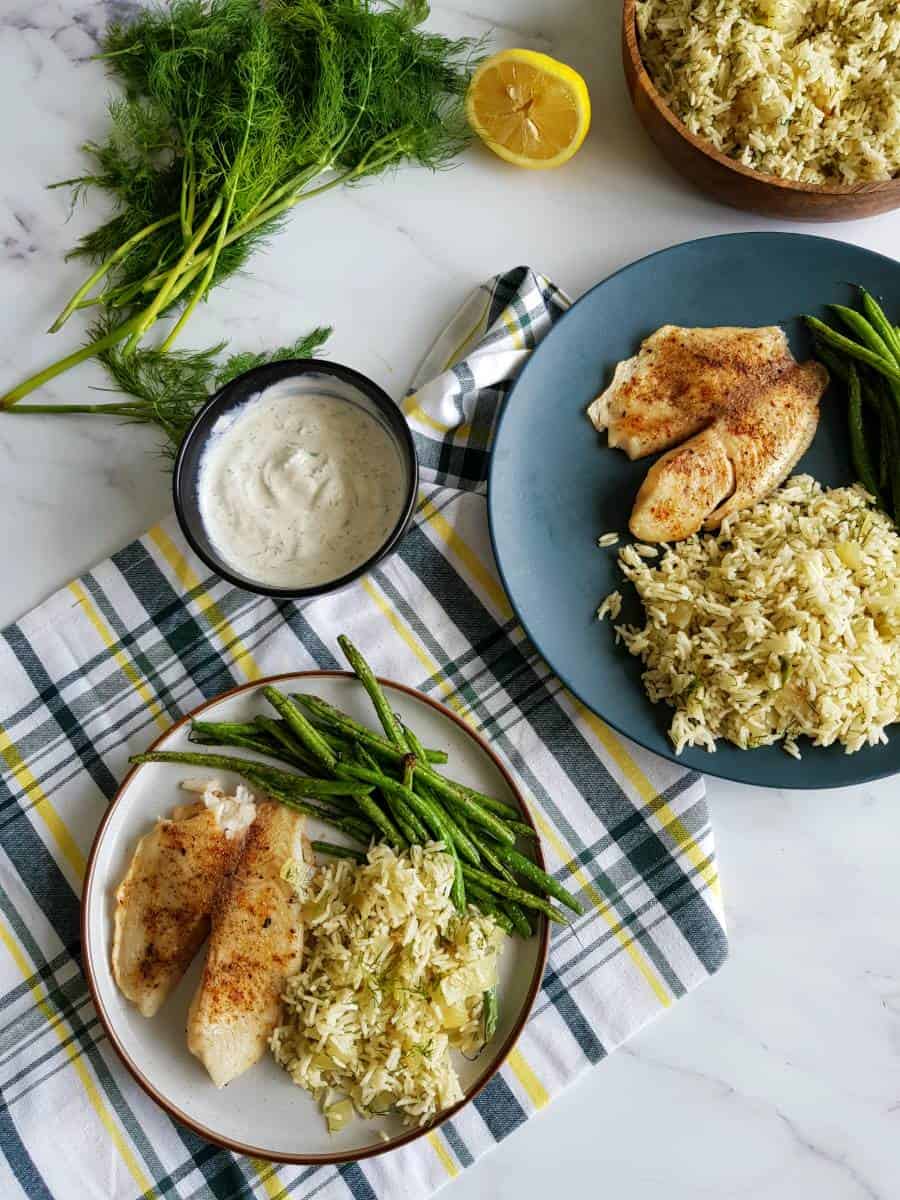
[(829, 305), (853, 336), (804, 318), (815, 355), (847, 389), (853, 470), (881, 509), (900, 524), (900, 326), (875, 296), (859, 289), (862, 312)]

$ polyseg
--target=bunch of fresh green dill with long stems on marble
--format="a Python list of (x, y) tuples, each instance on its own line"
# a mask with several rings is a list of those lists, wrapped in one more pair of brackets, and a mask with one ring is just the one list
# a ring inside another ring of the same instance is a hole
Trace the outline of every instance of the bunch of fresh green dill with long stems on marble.
[[(209, 292), (302, 200), (406, 162), (440, 168), (467, 143), (478, 47), (419, 29), (426, 16), (421, 0), (170, 0), (112, 24), (101, 56), (121, 95), (85, 146), (89, 169), (66, 184), (104, 193), (113, 215), (72, 251), (92, 270), (52, 331), (84, 308), (100, 319), (0, 407), (101, 358), (137, 388), (136, 419), (152, 412), (174, 439), (190, 404), (161, 404), (160, 386), (194, 394), (210, 352), (164, 355)], [(174, 324), (148, 350), (161, 317)]]

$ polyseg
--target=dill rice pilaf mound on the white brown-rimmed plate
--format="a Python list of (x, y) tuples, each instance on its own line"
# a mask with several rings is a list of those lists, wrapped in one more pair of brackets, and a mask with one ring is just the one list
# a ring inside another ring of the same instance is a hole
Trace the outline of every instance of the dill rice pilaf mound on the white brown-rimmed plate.
[(452, 859), (439, 845), (317, 871), (304, 895), (306, 946), (288, 980), (276, 1060), (312, 1092), (335, 1129), (344, 1105), (396, 1110), (425, 1124), (463, 1098), (451, 1049), (481, 1049), (484, 992), (504, 934), (450, 900)]

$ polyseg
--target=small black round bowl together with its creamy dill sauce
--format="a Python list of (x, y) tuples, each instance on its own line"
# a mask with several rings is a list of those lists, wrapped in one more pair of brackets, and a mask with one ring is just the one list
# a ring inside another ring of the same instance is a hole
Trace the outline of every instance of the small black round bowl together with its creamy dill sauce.
[(406, 532), (415, 446), (386, 392), (349, 367), (288, 359), (218, 391), (179, 449), (174, 500), (192, 550), (262, 595), (336, 590)]

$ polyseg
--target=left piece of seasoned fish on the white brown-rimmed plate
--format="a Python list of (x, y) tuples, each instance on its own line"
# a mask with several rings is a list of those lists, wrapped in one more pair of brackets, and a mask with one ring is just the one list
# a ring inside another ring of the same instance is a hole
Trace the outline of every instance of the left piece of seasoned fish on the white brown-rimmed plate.
[(115, 894), (113, 976), (144, 1016), (160, 1009), (205, 941), (241, 842), (202, 803), (174, 809), (138, 842)]

